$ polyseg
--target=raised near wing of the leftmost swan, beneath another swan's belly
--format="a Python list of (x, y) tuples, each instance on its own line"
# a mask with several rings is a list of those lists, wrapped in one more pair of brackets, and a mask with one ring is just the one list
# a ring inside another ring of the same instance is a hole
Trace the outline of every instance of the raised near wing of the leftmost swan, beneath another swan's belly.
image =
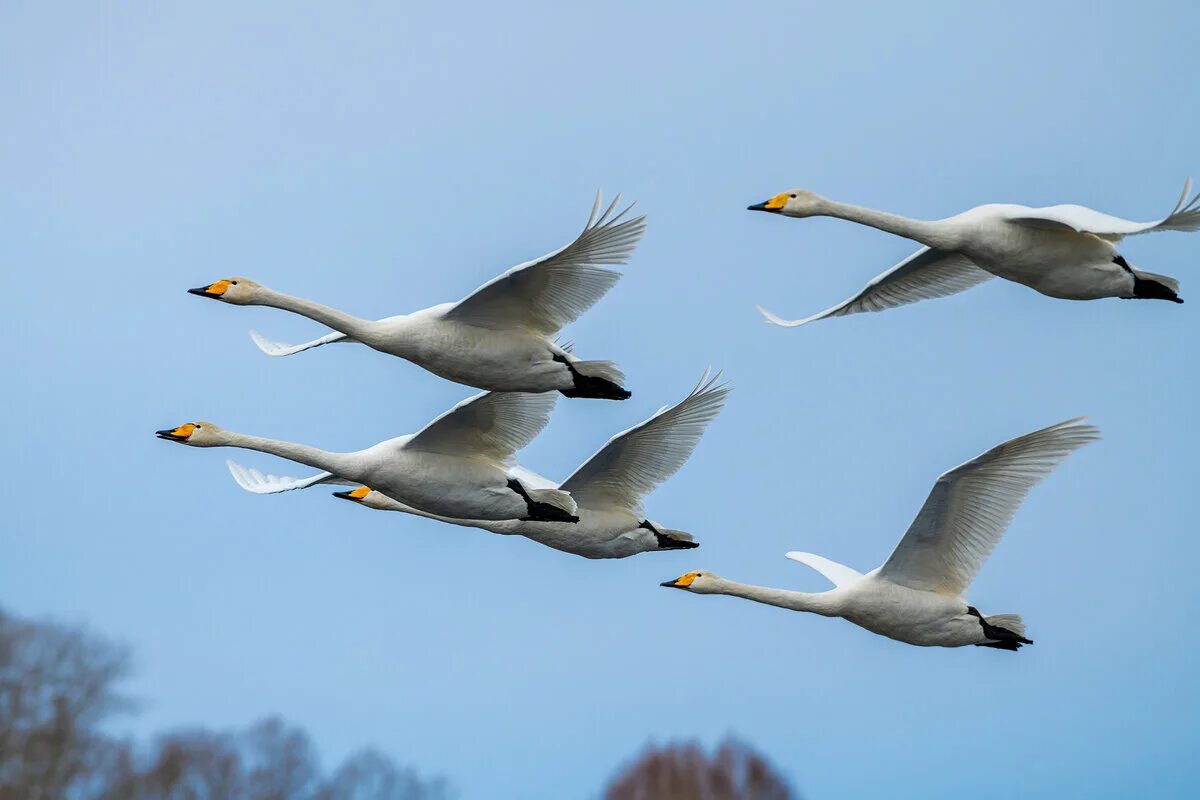
[(404, 447), (508, 462), (546, 427), (557, 399), (557, 392), (482, 392), (430, 422)]

